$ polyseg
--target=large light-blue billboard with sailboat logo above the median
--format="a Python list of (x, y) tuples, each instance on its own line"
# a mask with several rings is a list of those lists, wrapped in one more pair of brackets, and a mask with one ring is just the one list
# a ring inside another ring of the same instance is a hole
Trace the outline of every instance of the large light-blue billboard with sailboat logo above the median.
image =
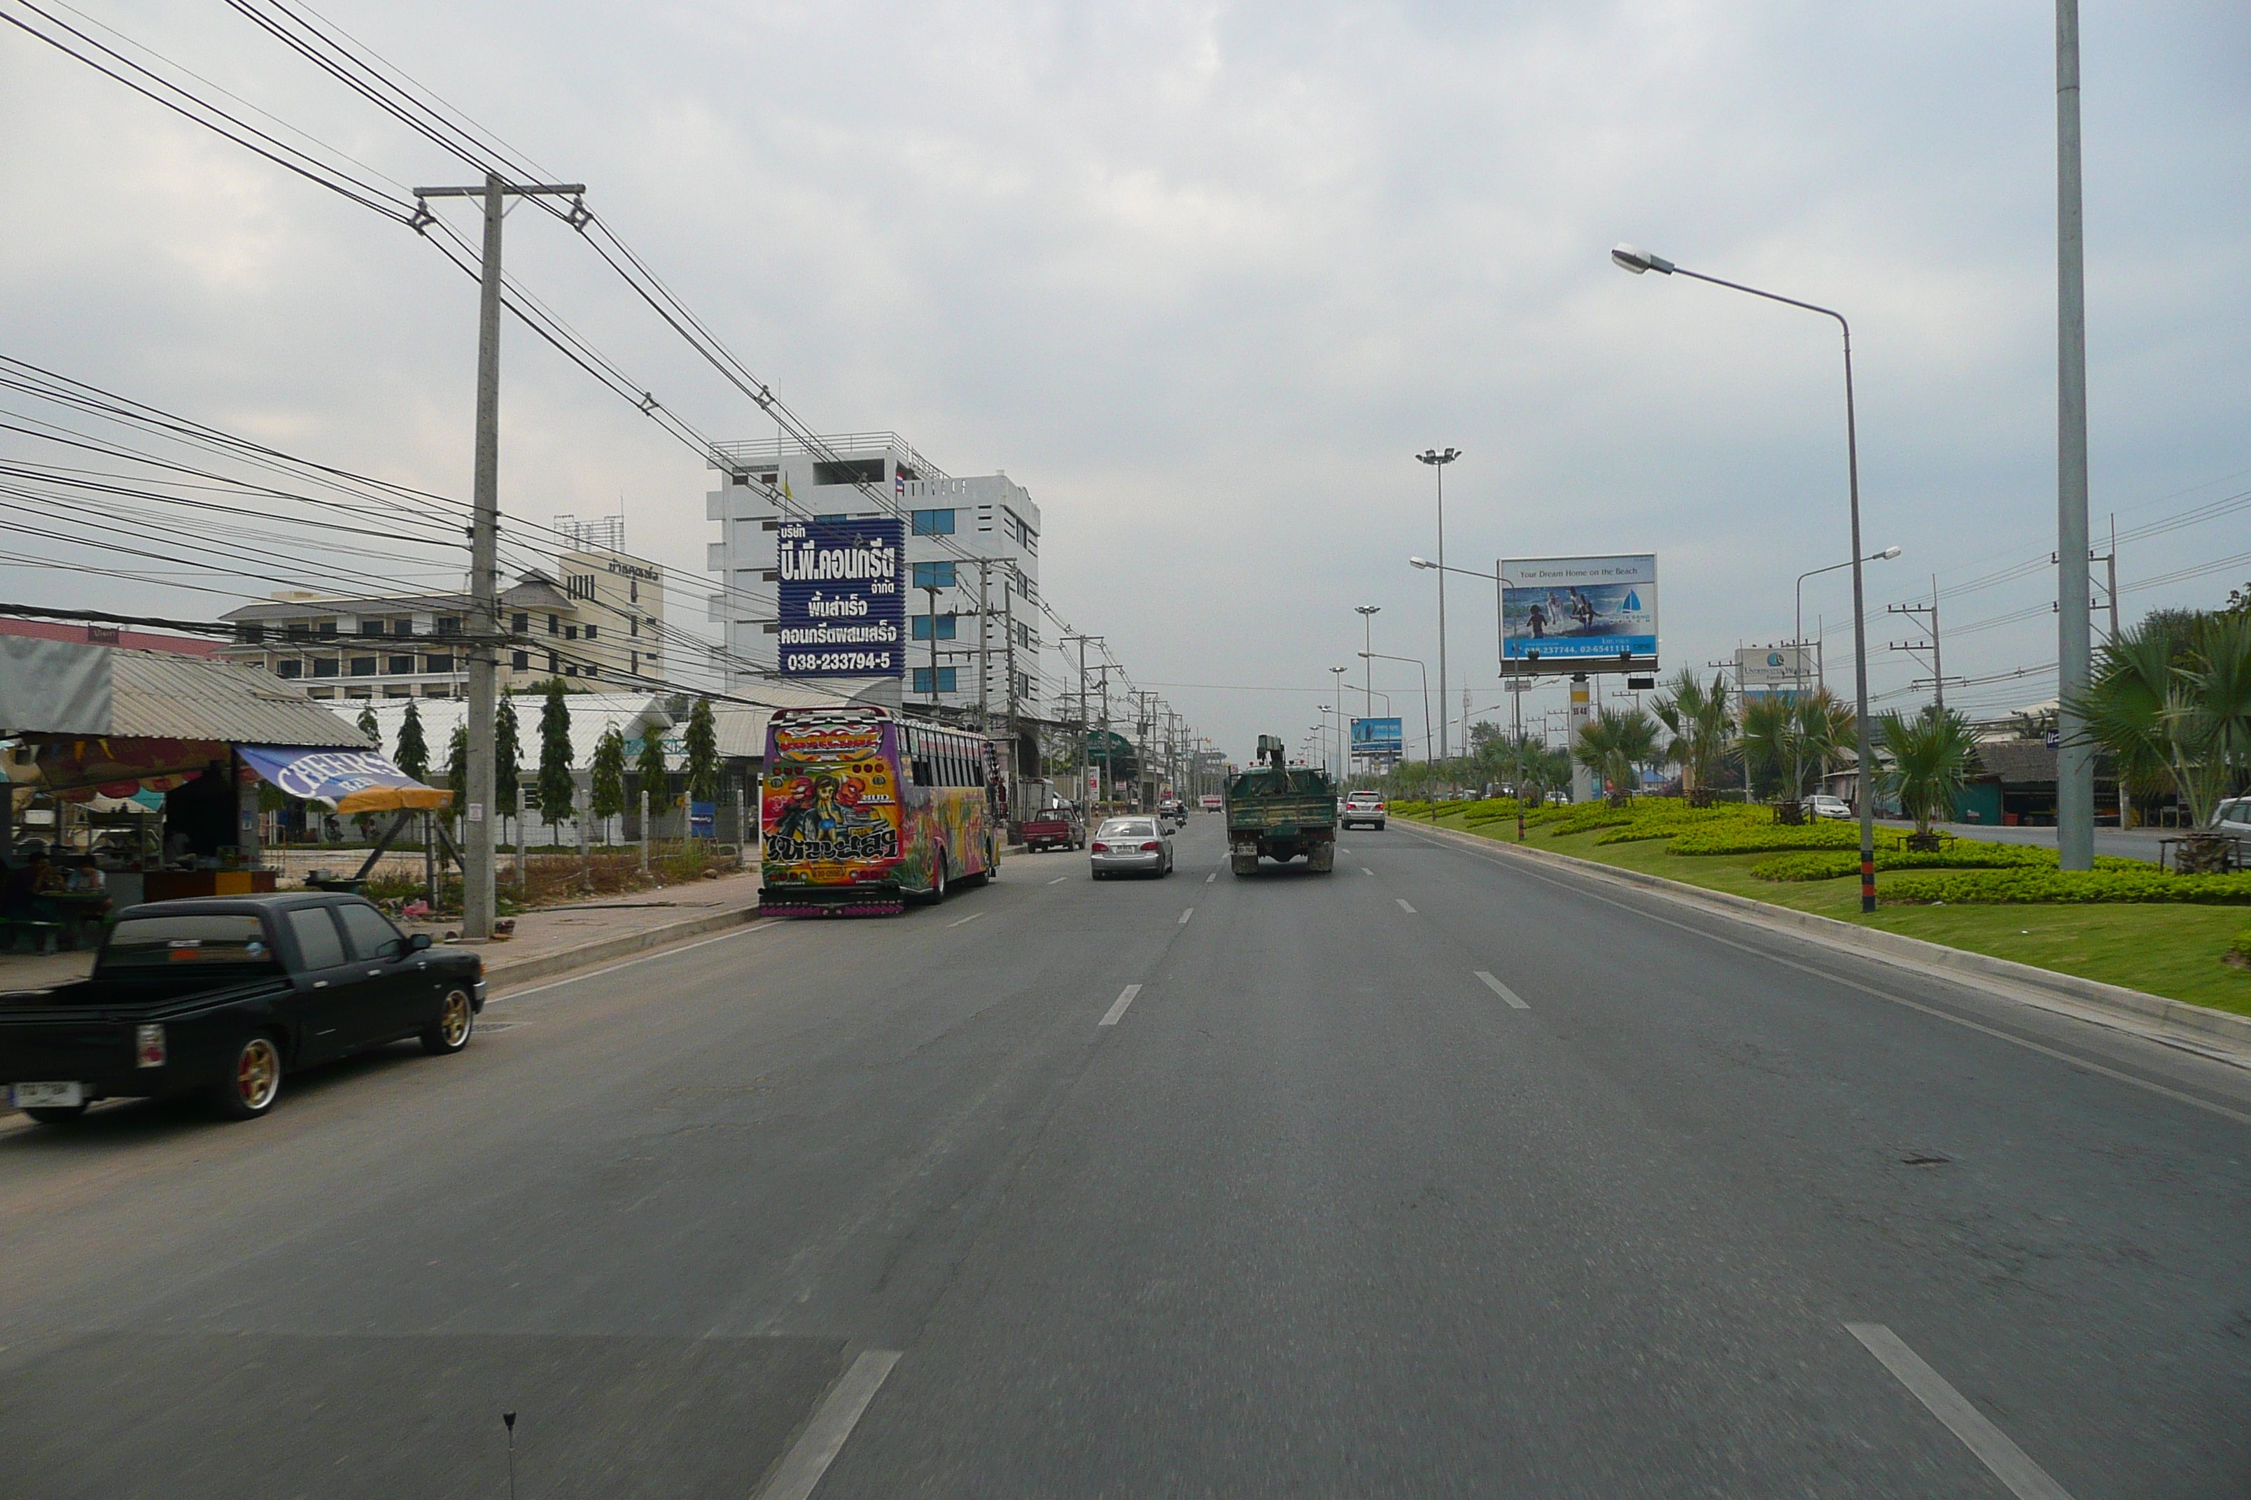
[(1504, 675), (1657, 666), (1654, 553), (1504, 560), (1499, 571)]

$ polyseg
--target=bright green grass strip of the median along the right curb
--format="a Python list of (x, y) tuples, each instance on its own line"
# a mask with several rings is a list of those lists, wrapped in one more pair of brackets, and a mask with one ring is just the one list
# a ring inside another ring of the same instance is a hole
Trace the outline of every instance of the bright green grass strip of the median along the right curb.
[[(1429, 819), (1416, 819), (1429, 821)], [(1472, 823), (1452, 812), (1436, 823), (1499, 843), (1517, 841), (1515, 819)], [(1859, 911), (1859, 879), (1772, 882), (1751, 866), (1772, 859), (1751, 855), (1672, 855), (1666, 839), (1596, 843), (1605, 830), (1558, 832), (1553, 819), (1526, 830), (1526, 848), (1573, 855), (1594, 864), (1661, 875), (1706, 891), (1745, 895), (1769, 906), (1812, 911), (1839, 922), (1877, 927), (1925, 942), (1990, 954), (2057, 974), (2125, 985), (2170, 1001), (2210, 1005), (2251, 1016), (2251, 969), (2226, 963), (2237, 936), (2251, 927), (2244, 906), (2172, 904), (2037, 904), (2037, 906), (1877, 906)], [(1900, 877), (1911, 870), (1900, 870)], [(1877, 893), (1893, 879), (1877, 873)]]

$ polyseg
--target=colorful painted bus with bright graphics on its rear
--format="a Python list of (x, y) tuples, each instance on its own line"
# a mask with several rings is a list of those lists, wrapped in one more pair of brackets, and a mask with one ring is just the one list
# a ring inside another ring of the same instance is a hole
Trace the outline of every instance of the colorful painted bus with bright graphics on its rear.
[(887, 708), (777, 708), (765, 729), (759, 911), (885, 915), (999, 875), (999, 758)]

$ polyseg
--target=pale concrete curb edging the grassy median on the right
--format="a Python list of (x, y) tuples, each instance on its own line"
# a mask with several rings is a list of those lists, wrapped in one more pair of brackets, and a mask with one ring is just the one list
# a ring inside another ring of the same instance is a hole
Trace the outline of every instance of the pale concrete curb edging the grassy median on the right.
[[(1416, 832), (1427, 832), (1436, 839), (1454, 841), (1474, 850), (1497, 850), (1513, 859), (1544, 859), (1571, 866), (1585, 875), (1609, 879), (1621, 886), (1636, 886), (1670, 902), (1679, 902), (1681, 906), (1697, 906), (1702, 911), (1733, 918), (1751, 927), (1765, 927), (1769, 931), (1792, 931), (1812, 938), (1814, 942), (1862, 954), (1864, 958), (1877, 958), (1904, 969), (1920, 969), (1956, 981), (1999, 981), (1999, 985), (1985, 983), (1979, 987), (2003, 994), (2006, 999), (2037, 1003), (2039, 996), (2053, 996), (2093, 1007), (2098, 1012), (2134, 1016), (2136, 1021), (2154, 1023), (2152, 1030), (2156, 1032), (2170, 1032), (2183, 1041), (2199, 1043), (2197, 1050), (2208, 1057), (2224, 1055), (2224, 1059), (2235, 1066), (2251, 1066), (2251, 1016), (2237, 1016), (2206, 1005), (2188, 1005), (2186, 1001), (2168, 1001), (2161, 994), (2143, 994), (2141, 990), (2127, 990), (2125, 985), (2105, 985), (2102, 981), (2080, 978), (2075, 974), (2057, 974), (2055, 969), (2015, 963), (2012, 958), (1992, 958), (1990, 954), (1972, 954), (1970, 949), (1954, 949), (1943, 942), (1925, 942), (1922, 938), (1855, 927), (1853, 922), (1839, 922), (1837, 918), (1823, 918), (1810, 911), (1769, 906), (1767, 902), (1754, 902), (1745, 895), (1706, 891), (1704, 886), (1666, 879), (1663, 875), (1643, 875), (1641, 870), (1600, 864), (1598, 859), (1558, 855), (1555, 850), (1519, 848), (1515, 843), (1483, 839), (1454, 828), (1432, 828), (1420, 821), (1402, 823), (1402, 828), (1414, 828)], [(2033, 994), (2024, 994), (2026, 990)]]

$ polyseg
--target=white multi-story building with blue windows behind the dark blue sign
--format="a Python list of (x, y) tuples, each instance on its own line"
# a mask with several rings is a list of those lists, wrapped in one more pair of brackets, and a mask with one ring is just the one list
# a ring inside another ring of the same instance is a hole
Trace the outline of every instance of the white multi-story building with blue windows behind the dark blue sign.
[[(779, 675), (781, 522), (898, 515), (907, 522), (909, 567), (909, 670), (898, 684), (905, 702), (1038, 715), (1040, 506), (1031, 493), (1008, 475), (954, 479), (896, 432), (846, 432), (819, 443), (833, 457), (817, 459), (788, 439), (716, 445), (720, 486), (705, 497), (705, 515), (720, 522), (707, 562), (720, 591), (709, 618), (727, 632), (727, 686)], [(833, 686), (862, 695), (873, 688)]]

